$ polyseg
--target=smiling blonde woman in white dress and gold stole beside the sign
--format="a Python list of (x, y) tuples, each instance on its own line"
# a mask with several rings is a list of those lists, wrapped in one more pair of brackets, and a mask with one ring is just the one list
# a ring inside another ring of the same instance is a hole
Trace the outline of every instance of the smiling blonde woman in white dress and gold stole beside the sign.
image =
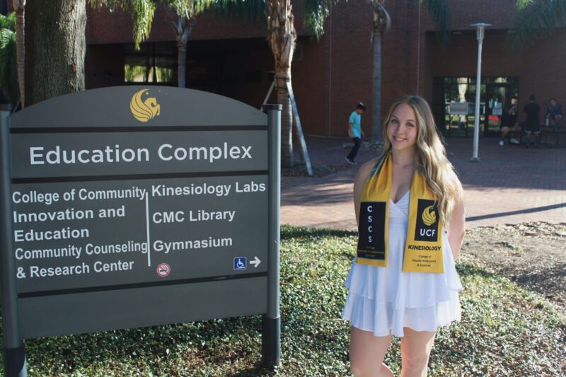
[(463, 189), (424, 99), (395, 101), (384, 124), (383, 154), (354, 182), (359, 238), (342, 318), (356, 376), (393, 376), (383, 364), (393, 336), (401, 376), (425, 376), (437, 327), (461, 318)]

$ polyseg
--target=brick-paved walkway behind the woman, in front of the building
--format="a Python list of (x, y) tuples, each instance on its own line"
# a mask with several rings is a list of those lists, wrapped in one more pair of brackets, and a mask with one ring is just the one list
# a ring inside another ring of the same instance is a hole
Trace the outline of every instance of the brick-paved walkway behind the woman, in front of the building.
[[(307, 137), (313, 164), (345, 165), (347, 139)], [(480, 139), (479, 163), (470, 162), (473, 139), (448, 139), (450, 161), (464, 187), (468, 227), (548, 221), (566, 224), (566, 149), (499, 146)], [(360, 151), (360, 163), (376, 156)], [(298, 158), (298, 156), (297, 156)], [(323, 178), (282, 178), (281, 222), (356, 230), (352, 187), (357, 166)]]

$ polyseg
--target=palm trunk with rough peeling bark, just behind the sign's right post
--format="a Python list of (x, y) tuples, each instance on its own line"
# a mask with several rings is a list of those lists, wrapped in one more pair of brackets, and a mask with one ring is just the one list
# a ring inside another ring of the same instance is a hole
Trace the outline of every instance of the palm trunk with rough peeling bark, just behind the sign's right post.
[(287, 91), (291, 81), (291, 60), (295, 49), (296, 30), (291, 0), (270, 0), (267, 15), (267, 41), (275, 59), (277, 102), (283, 105), (281, 113), (281, 166), (293, 167), (293, 113)]

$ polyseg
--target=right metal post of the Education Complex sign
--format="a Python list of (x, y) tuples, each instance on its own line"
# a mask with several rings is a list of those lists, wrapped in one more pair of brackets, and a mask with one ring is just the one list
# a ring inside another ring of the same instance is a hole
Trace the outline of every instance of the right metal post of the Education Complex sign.
[(281, 316), (279, 315), (280, 224), (281, 207), (281, 110), (282, 105), (263, 105), (267, 112), (270, 143), (269, 277), (267, 277), (267, 313), (262, 318), (262, 360), (273, 369), (281, 364)]

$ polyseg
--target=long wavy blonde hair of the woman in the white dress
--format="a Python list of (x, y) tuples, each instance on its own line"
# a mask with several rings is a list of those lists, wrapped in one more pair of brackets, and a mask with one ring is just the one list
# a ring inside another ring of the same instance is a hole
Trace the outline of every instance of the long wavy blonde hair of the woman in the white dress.
[(391, 153), (391, 141), (387, 137), (387, 126), (391, 114), (398, 105), (406, 103), (417, 116), (417, 172), (427, 178), (429, 189), (437, 197), (440, 219), (448, 224), (456, 200), (462, 196), (462, 186), (454, 172), (454, 166), (446, 157), (446, 149), (437, 133), (432, 111), (426, 100), (418, 95), (405, 95), (391, 105), (386, 122), (383, 123), (383, 156)]

